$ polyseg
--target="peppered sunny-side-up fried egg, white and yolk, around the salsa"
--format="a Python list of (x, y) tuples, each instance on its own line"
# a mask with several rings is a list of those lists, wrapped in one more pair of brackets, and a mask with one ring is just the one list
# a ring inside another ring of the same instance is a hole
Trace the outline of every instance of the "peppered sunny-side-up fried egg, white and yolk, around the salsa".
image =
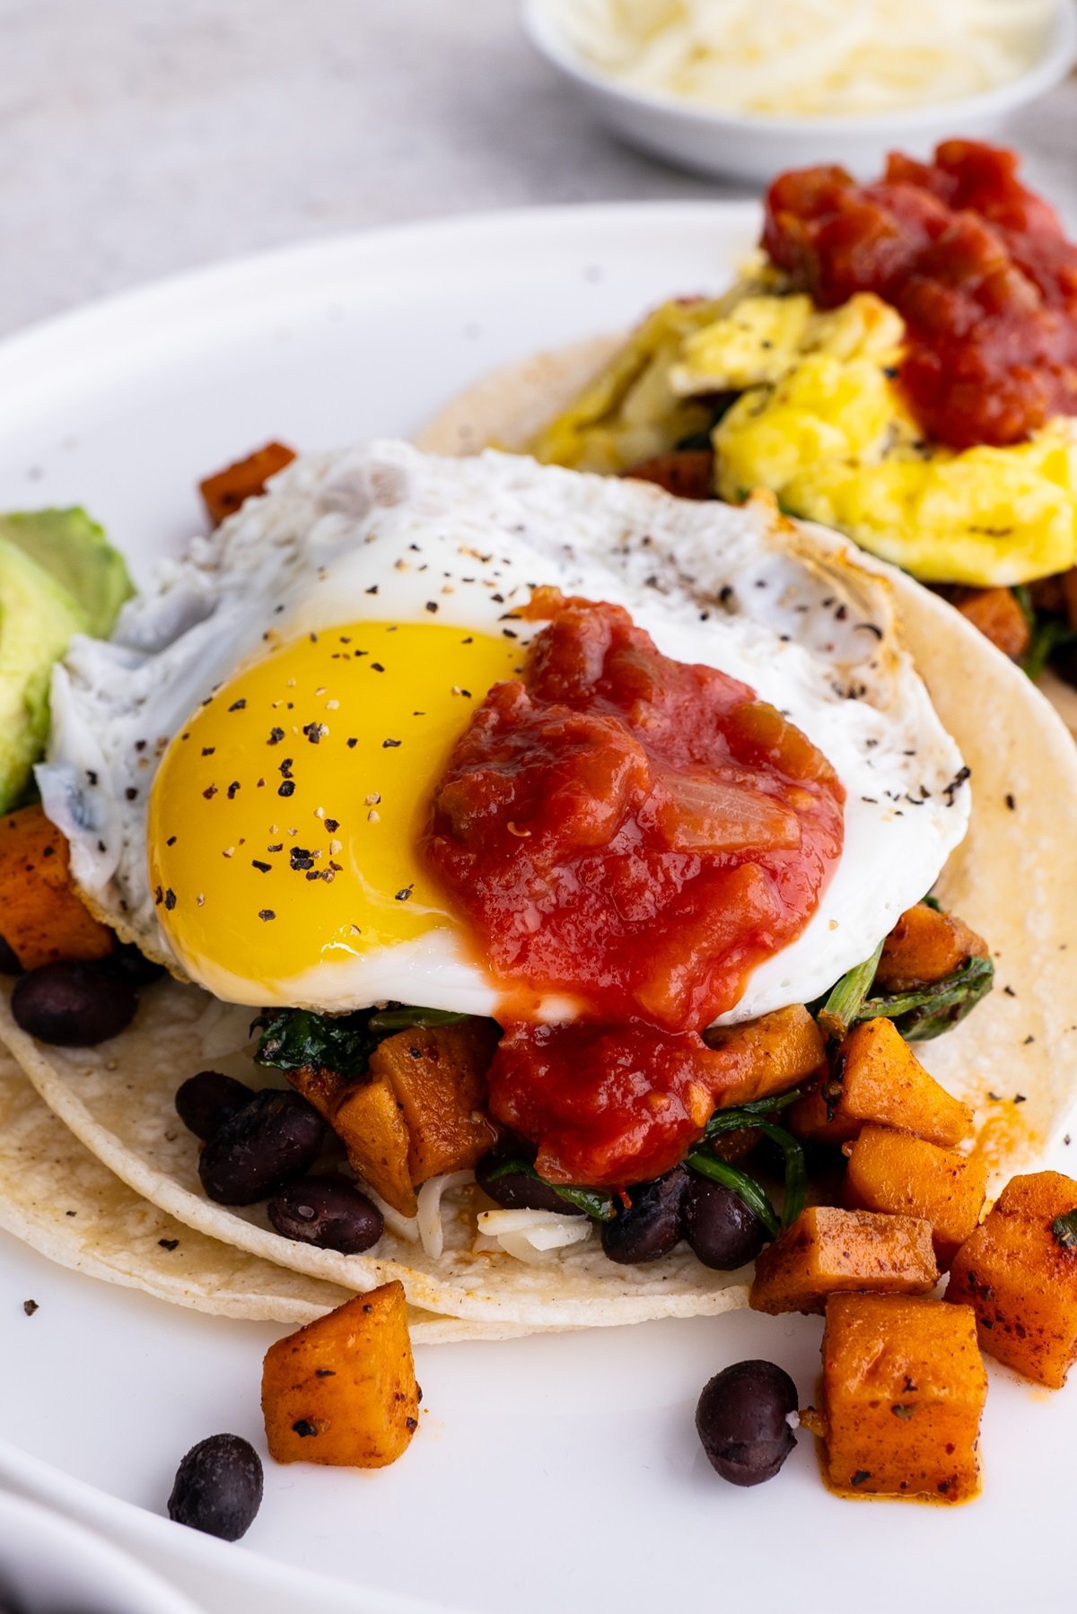
[(928, 891), (969, 813), (885, 581), (767, 499), (686, 504), (492, 452), (308, 455), (166, 565), (110, 644), (73, 644), (39, 783), (90, 907), (229, 1002), (494, 1012), (417, 838), (471, 712), (541, 629), (518, 617), (539, 584), (625, 605), (830, 759), (841, 860), (727, 1018), (827, 991)]

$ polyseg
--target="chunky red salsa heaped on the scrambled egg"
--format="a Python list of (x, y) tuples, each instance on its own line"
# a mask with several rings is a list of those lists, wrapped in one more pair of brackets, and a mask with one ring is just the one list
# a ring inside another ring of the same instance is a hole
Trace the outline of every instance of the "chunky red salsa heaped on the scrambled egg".
[(823, 308), (875, 292), (898, 310), (901, 384), (937, 442), (1020, 442), (1077, 415), (1077, 247), (1012, 152), (948, 140), (933, 163), (891, 155), (874, 184), (782, 174), (762, 244)]

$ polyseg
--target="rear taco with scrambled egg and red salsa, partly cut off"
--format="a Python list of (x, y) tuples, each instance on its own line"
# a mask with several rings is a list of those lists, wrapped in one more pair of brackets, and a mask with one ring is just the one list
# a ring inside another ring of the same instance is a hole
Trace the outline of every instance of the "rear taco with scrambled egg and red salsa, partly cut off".
[[(870, 184), (782, 174), (731, 291), (652, 310), (526, 429), (486, 424), (681, 497), (770, 489), (940, 589), (1072, 728), (1075, 376), (1077, 247), (1011, 152), (949, 140)], [(468, 402), (423, 441), (481, 445)]]

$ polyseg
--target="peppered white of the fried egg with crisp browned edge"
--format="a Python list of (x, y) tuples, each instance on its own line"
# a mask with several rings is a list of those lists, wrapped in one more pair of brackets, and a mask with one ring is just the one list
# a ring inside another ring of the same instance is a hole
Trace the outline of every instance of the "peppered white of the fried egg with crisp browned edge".
[[(625, 605), (667, 655), (741, 678), (836, 768), (848, 791), (838, 868), (801, 936), (754, 972), (723, 1020), (811, 1002), (930, 889), (970, 807), (958, 747), (869, 568), (765, 502), (688, 504), (644, 483), (492, 452), (436, 458), (402, 442), (308, 455), (166, 565), (113, 642), (74, 641), (53, 678), (45, 810), (94, 910), (176, 965), (147, 880), (153, 771), (265, 634), (436, 620), (523, 644), (541, 625), (513, 620), (513, 607), (552, 584)], [(250, 980), (242, 960), (199, 980), (233, 1002), (331, 1012), (400, 999), (491, 1014), (497, 999), (450, 930), (289, 980)], [(546, 1004), (551, 1017), (565, 1009)]]

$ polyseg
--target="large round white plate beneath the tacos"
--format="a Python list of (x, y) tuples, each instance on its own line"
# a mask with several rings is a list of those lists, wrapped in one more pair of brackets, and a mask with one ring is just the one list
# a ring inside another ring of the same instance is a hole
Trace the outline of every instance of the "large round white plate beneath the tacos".
[[(741, 205), (507, 213), (329, 240), (53, 321), (0, 349), (0, 508), (82, 500), (145, 576), (199, 526), (205, 471), (270, 436), (407, 433), (491, 365), (719, 287), (756, 228)], [(266, 1462), (262, 1514), (233, 1548), (129, 1504), (160, 1514), (176, 1462), (215, 1430), (262, 1445), (260, 1361), (283, 1330), (107, 1288), (11, 1240), (0, 1328), (0, 1475), (155, 1556), (221, 1614), (1074, 1603), (1072, 1390), (991, 1372), (987, 1491), (967, 1507), (836, 1501), (806, 1436), (765, 1488), (712, 1475), (693, 1430), (704, 1382), (765, 1356), (811, 1399), (817, 1320), (420, 1351), (407, 1456), (379, 1474)]]

